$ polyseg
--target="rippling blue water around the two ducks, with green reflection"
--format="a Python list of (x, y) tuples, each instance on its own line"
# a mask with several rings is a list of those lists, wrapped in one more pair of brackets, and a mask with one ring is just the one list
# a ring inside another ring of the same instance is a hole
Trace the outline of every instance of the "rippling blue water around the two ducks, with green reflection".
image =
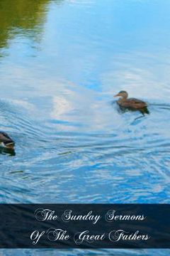
[[(16, 142), (15, 156), (0, 151), (1, 203), (170, 203), (169, 11), (166, 0), (0, 1), (0, 128)], [(120, 90), (150, 114), (120, 113)]]

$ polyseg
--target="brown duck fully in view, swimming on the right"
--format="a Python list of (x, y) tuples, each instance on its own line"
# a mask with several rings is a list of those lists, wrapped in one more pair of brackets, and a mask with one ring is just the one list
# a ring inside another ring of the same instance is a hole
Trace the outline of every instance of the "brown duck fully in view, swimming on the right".
[(114, 97), (120, 97), (117, 101), (120, 107), (130, 108), (132, 110), (142, 110), (147, 107), (147, 103), (142, 100), (128, 98), (128, 92), (124, 90), (118, 92), (118, 94), (114, 95)]

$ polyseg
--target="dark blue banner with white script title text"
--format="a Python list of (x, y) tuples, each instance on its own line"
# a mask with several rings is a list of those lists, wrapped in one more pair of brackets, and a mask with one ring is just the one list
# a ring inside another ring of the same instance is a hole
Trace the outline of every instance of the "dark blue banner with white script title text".
[(170, 248), (169, 204), (1, 204), (1, 248)]

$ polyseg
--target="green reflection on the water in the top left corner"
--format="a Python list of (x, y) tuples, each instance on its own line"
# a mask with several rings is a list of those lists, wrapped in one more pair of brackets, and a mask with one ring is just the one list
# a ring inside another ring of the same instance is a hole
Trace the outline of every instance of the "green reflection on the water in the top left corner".
[[(54, 2), (60, 4), (62, 1)], [(0, 48), (6, 48), (8, 41), (19, 33), (38, 41), (38, 35), (45, 23), (47, 6), (51, 2), (50, 0), (0, 0)]]

